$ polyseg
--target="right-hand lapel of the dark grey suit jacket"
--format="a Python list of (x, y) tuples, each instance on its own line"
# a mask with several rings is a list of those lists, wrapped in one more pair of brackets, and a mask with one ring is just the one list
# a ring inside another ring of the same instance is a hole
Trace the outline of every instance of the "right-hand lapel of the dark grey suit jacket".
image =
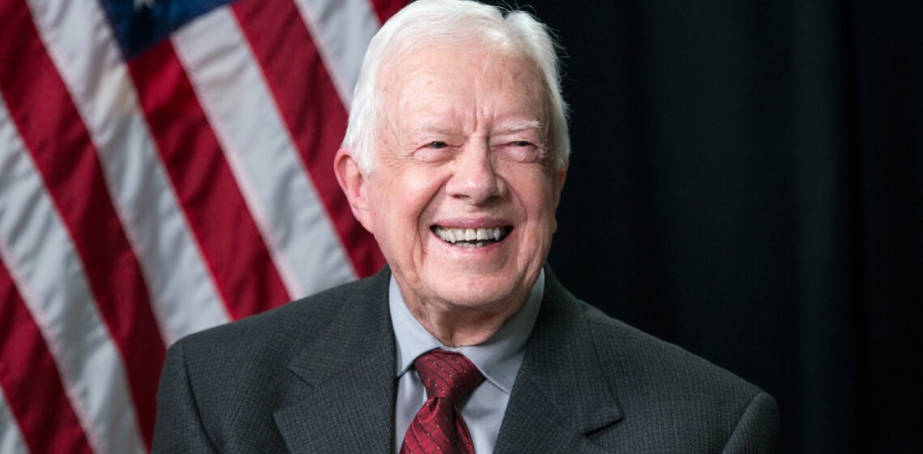
[(545, 267), (542, 308), (495, 452), (602, 452), (586, 436), (621, 418), (616, 401), (580, 305)]

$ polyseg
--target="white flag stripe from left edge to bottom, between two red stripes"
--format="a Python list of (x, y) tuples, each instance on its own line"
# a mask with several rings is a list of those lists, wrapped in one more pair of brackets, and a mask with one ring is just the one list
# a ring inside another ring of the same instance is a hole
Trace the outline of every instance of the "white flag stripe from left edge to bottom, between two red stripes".
[(126, 371), (60, 213), (0, 99), (0, 258), (98, 452), (143, 452)]

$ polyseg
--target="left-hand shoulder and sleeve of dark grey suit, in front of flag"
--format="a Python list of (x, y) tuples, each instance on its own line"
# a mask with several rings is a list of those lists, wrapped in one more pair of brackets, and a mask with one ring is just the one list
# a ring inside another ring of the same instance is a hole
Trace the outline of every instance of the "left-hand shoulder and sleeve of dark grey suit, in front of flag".
[(388, 275), (379, 273), (187, 336), (167, 353), (159, 412), (195, 412), (222, 451), (254, 440), (268, 452), (282, 450), (274, 425), (255, 422), (273, 421), (274, 412), (309, 392), (299, 365), (325, 378), (345, 361), (338, 348), (379, 341), (390, 329), (387, 292)]

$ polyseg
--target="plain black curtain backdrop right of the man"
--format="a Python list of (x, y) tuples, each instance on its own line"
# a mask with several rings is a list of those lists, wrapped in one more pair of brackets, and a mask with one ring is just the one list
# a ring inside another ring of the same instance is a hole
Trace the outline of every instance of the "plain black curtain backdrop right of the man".
[(522, 2), (568, 55), (558, 278), (770, 391), (781, 452), (923, 452), (923, 2)]

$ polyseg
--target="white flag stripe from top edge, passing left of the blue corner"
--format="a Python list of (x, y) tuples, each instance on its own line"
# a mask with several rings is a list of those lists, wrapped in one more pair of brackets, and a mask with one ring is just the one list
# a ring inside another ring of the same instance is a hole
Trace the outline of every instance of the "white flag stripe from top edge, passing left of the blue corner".
[(100, 153), (106, 182), (169, 345), (230, 320), (95, 0), (29, 0), (42, 41)]

